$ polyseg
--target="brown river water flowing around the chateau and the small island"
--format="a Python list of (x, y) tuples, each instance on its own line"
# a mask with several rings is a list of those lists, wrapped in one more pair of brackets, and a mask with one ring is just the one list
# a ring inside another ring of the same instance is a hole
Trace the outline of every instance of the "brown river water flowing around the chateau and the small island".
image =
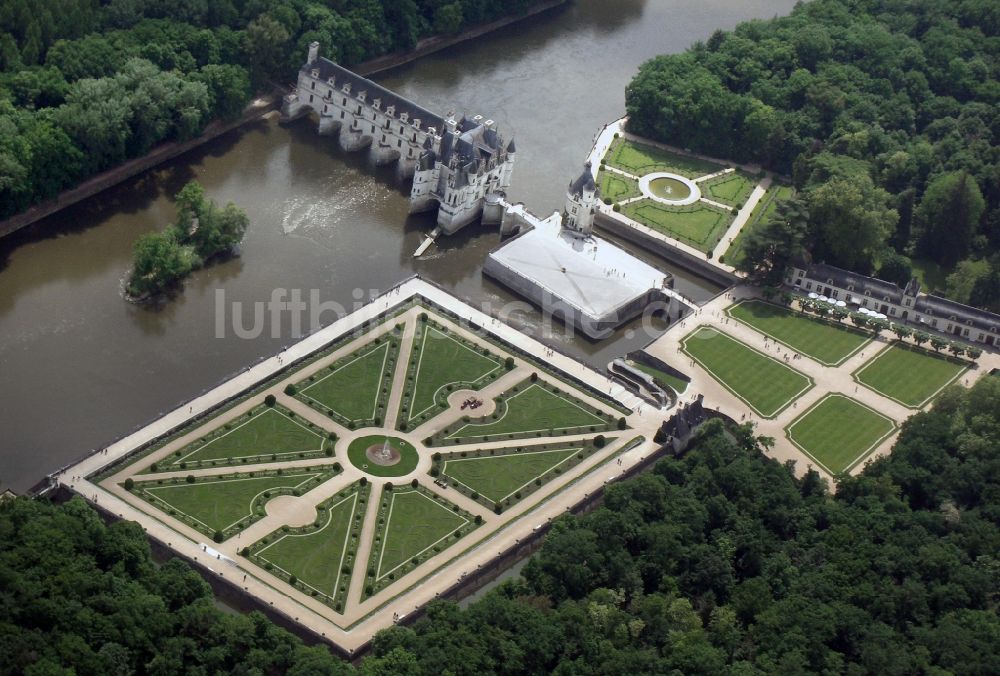
[[(562, 207), (601, 126), (623, 114), (639, 64), (793, 4), (577, 0), (377, 79), (428, 108), (481, 113), (513, 131), (509, 197), (545, 215)], [(162, 308), (125, 302), (133, 242), (173, 218), (170, 196), (192, 179), (250, 216), (240, 257), (197, 272)], [(244, 304), (241, 326), (249, 327), (250, 306), (274, 289), (299, 289), (307, 300), (316, 290), (349, 308), (415, 273), (477, 305), (513, 300), (482, 276), (499, 242), (492, 229), (470, 226), (412, 258), (433, 220), (407, 217), (407, 192), (394, 170), (340, 152), (308, 120), (262, 121), (0, 240), (0, 489), (27, 489), (295, 341), (287, 316), (274, 335), (268, 326), (257, 338), (237, 337), (232, 301)], [(696, 300), (718, 291), (674, 272), (678, 290)], [(217, 290), (228, 308), (223, 337)], [(601, 368), (653, 337), (629, 326), (595, 344), (560, 325), (545, 330), (533, 312), (521, 319)], [(309, 323), (307, 313), (303, 328)]]

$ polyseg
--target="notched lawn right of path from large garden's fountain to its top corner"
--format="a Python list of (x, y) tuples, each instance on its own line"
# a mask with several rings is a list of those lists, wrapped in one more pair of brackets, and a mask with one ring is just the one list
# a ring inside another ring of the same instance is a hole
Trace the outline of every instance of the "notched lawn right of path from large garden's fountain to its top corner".
[[(401, 403), (400, 419), (416, 426), (444, 410), (448, 394), (478, 390), (504, 372), (503, 358), (421, 322), (414, 338), (409, 375), (413, 384)], [(492, 376), (492, 377), (491, 377)], [(407, 415), (408, 414), (408, 415)]]

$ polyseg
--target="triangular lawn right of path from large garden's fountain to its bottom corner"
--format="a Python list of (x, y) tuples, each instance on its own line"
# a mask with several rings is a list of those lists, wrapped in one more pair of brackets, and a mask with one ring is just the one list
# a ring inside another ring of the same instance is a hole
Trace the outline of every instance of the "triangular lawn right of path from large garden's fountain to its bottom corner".
[[(372, 549), (376, 581), (448, 539), (469, 519), (421, 490), (396, 489), (388, 495), (381, 546)], [(369, 566), (370, 568), (371, 566)]]

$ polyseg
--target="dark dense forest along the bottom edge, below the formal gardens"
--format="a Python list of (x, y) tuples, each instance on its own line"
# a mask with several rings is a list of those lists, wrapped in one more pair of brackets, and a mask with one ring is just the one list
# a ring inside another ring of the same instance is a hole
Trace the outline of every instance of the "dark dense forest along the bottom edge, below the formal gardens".
[[(523, 579), (431, 604), (358, 671), (998, 673), (998, 437), (1000, 378), (954, 387), (831, 495), (715, 421), (559, 519)], [(150, 563), (141, 528), (78, 499), (0, 507), (0, 576), (0, 673), (351, 671), (213, 609), (185, 565)]]

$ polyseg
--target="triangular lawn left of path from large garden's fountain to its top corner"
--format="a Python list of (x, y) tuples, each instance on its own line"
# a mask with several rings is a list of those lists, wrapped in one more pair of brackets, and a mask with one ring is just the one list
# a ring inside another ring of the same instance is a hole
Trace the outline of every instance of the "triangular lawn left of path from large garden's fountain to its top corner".
[(372, 424), (382, 417), (397, 354), (395, 340), (365, 345), (299, 382), (296, 396), (340, 422)]

